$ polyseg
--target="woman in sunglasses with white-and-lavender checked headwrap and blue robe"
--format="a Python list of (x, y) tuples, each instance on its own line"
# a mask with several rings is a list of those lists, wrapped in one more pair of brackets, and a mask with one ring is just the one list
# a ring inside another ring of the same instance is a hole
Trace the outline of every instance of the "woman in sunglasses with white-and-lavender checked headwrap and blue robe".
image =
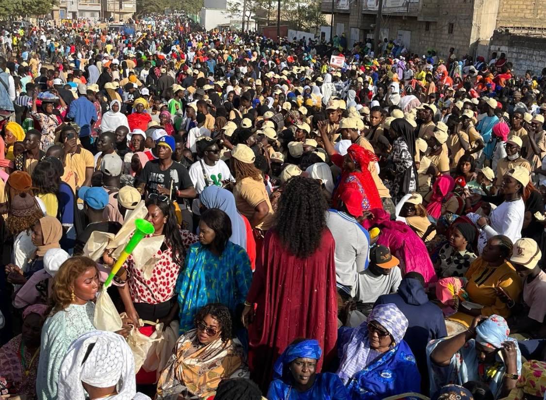
[(410, 346), (403, 340), (408, 320), (394, 304), (376, 305), (357, 328), (340, 328), (342, 352), (337, 375), (351, 398), (379, 400), (419, 392), (421, 376)]

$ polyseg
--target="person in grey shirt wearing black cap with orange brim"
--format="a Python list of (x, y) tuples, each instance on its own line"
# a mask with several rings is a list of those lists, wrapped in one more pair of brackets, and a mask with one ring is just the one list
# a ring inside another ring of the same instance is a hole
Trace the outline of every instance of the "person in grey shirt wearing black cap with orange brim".
[(370, 251), (370, 266), (358, 275), (359, 286), (355, 297), (365, 304), (373, 304), (379, 296), (395, 293), (402, 281), (399, 263), (398, 258), (390, 254), (389, 248), (375, 246)]

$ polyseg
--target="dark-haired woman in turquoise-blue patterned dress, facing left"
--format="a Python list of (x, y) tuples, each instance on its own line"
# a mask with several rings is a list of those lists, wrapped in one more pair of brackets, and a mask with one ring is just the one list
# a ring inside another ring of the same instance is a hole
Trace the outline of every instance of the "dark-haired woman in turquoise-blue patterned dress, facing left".
[(224, 211), (211, 208), (201, 214), (199, 242), (189, 248), (176, 282), (180, 334), (194, 328), (195, 313), (208, 303), (222, 303), (235, 313), (245, 302), (252, 281), (250, 260), (230, 236), (232, 223)]

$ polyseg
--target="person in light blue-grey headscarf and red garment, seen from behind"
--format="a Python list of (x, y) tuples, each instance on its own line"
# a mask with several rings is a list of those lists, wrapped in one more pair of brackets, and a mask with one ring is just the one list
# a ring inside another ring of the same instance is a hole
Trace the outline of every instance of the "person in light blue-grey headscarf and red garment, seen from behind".
[(211, 185), (205, 187), (199, 195), (199, 201), (204, 208), (218, 208), (228, 214), (232, 221), (232, 236), (229, 241), (238, 244), (246, 250), (252, 270), (256, 264), (256, 241), (252, 233), (250, 222), (244, 215), (241, 215), (235, 207), (233, 193), (222, 187)]

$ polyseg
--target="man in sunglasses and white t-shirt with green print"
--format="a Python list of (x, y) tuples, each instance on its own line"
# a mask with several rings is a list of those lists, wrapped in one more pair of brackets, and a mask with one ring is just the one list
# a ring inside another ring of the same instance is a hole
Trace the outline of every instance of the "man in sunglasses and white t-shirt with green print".
[[(200, 158), (189, 167), (188, 173), (198, 196), (207, 186), (222, 186), (226, 181), (235, 180), (228, 165), (220, 160), (220, 149), (216, 142), (217, 140), (206, 138), (195, 143), (197, 155)], [(199, 197), (195, 198), (192, 204), (192, 211), (195, 215), (201, 215), (200, 205)]]

